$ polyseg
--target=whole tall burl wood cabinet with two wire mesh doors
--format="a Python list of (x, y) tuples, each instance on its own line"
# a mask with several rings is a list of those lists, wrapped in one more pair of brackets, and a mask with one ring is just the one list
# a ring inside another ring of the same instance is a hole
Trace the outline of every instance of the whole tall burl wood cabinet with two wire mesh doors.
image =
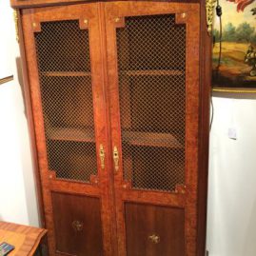
[(205, 3), (11, 5), (49, 255), (203, 256)]

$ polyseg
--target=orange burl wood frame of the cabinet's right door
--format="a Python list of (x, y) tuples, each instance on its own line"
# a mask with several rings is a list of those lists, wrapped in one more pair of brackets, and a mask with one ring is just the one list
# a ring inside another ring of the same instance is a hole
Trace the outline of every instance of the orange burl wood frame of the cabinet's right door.
[[(196, 255), (197, 182), (199, 144), (199, 57), (200, 5), (144, 1), (109, 2), (105, 4), (108, 50), (108, 91), (110, 98), (111, 143), (119, 148), (119, 171), (114, 176), (118, 253), (127, 255), (125, 202), (140, 202), (158, 206), (182, 207), (185, 210), (185, 251)], [(177, 24), (187, 26), (186, 54), (186, 189), (183, 193), (136, 190), (124, 181), (121, 137), (119, 73), (116, 30), (125, 27), (125, 17), (175, 13)], [(183, 15), (186, 13), (186, 15)], [(116, 22), (118, 17), (118, 22)]]

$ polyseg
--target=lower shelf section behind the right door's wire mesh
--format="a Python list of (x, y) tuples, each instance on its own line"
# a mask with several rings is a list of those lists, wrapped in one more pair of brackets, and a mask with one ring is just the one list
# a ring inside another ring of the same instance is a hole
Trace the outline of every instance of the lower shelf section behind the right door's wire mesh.
[(169, 133), (123, 131), (123, 140), (132, 146), (148, 146), (162, 148), (184, 148)]

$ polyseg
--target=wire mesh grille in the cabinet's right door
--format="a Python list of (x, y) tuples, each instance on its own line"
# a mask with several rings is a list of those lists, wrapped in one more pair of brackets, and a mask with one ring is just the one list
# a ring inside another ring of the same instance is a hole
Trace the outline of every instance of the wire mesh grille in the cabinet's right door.
[(127, 17), (117, 29), (124, 178), (136, 189), (185, 183), (186, 25)]

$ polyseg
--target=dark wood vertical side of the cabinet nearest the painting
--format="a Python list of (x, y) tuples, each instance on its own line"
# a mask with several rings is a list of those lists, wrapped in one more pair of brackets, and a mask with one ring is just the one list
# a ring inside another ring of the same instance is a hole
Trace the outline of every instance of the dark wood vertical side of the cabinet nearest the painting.
[(201, 1), (200, 124), (198, 168), (197, 256), (205, 256), (207, 237), (207, 179), (209, 104), (211, 92), (211, 36), (207, 32), (206, 1)]

